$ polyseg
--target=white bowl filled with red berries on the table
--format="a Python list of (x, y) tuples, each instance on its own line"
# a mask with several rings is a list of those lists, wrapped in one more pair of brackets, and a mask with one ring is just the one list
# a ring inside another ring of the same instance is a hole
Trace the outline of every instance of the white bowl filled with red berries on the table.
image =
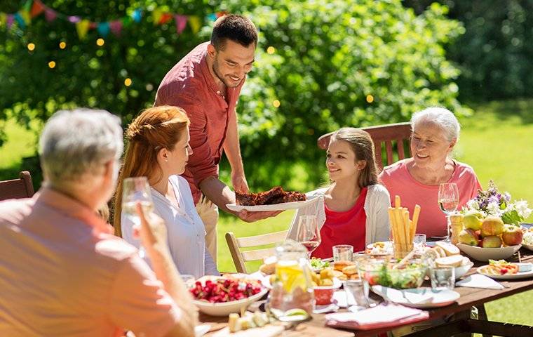
[(225, 275), (198, 279), (189, 288), (193, 303), (211, 316), (227, 316), (262, 298), (268, 289), (257, 279), (243, 275)]

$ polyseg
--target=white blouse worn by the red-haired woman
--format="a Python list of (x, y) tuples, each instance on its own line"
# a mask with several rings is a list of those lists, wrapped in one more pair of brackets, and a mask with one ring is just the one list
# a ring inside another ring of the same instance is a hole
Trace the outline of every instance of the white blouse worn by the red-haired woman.
[[(205, 247), (205, 227), (198, 216), (191, 188), (187, 180), (180, 176), (170, 176), (177, 204), (171, 204), (165, 196), (151, 188), (155, 212), (165, 220), (168, 232), (168, 248), (177, 270), (181, 274), (202, 277), (220, 275), (217, 266)], [(137, 248), (140, 240), (133, 237), (133, 223), (121, 216), (122, 236)]]

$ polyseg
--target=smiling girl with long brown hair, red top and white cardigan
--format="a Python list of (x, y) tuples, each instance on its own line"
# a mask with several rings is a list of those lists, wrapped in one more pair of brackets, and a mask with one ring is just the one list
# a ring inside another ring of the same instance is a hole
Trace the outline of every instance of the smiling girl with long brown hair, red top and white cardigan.
[(366, 244), (389, 237), (389, 192), (377, 179), (374, 143), (358, 128), (341, 128), (330, 138), (326, 167), (332, 184), (307, 193), (323, 196), (322, 204), (299, 209), (288, 237), (295, 237), (299, 216), (316, 215), (322, 242), (311, 256), (330, 258), (332, 246), (351, 244), (362, 251)]

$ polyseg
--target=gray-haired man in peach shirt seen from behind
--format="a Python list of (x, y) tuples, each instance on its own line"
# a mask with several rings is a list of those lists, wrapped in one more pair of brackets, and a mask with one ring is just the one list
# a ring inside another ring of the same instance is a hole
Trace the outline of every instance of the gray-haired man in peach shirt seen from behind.
[(115, 188), (119, 119), (60, 111), (39, 143), (43, 186), (0, 202), (0, 336), (193, 336), (197, 312), (162, 220), (139, 208), (152, 272), (96, 213)]

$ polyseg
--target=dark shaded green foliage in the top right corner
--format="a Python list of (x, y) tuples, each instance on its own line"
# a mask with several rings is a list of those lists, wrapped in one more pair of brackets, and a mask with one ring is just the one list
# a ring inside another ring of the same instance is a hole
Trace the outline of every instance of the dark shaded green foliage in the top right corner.
[[(423, 11), (435, 0), (407, 0)], [(440, 0), (466, 32), (448, 48), (461, 76), (461, 98), (533, 97), (533, 0)]]

